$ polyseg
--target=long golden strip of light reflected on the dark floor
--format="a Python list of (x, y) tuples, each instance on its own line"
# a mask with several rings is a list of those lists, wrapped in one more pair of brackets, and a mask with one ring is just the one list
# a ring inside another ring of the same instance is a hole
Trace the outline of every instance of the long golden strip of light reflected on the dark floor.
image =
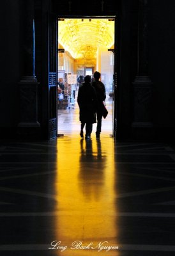
[(113, 150), (112, 138), (58, 139), (54, 240), (67, 248), (54, 251), (56, 255), (118, 255), (118, 250), (71, 248), (74, 241), (94, 248), (104, 241), (118, 245)]

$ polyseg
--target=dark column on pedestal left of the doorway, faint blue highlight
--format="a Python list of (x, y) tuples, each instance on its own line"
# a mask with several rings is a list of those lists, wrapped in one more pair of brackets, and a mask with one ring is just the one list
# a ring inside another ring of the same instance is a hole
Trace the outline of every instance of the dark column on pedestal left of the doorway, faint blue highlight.
[(34, 1), (22, 1), (22, 77), (19, 127), (39, 127), (38, 81), (34, 74)]

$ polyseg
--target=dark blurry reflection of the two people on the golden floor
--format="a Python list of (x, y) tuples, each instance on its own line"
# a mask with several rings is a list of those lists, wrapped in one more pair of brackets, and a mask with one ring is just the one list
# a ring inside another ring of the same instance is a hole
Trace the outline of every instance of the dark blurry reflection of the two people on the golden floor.
[[(97, 203), (103, 196), (106, 156), (102, 155), (100, 140), (80, 140), (80, 148), (80, 188), (86, 200)], [(84, 165), (86, 170), (84, 170)]]

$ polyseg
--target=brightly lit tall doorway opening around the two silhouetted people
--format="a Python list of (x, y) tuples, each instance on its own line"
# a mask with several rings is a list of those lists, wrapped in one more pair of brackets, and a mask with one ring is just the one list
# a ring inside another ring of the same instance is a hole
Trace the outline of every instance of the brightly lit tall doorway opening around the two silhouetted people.
[[(115, 19), (111, 17), (58, 19), (58, 136), (79, 134), (79, 77), (93, 77), (96, 70), (101, 73), (100, 80), (105, 84), (105, 104), (109, 111), (102, 122), (102, 133), (114, 136), (114, 28)], [(96, 124), (93, 131), (95, 129)]]

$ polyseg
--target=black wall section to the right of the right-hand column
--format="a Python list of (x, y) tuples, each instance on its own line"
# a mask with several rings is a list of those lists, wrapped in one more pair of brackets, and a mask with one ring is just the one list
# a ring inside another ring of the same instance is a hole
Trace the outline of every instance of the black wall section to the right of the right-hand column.
[(149, 74), (153, 80), (153, 124), (158, 138), (174, 137), (175, 1), (149, 1)]

